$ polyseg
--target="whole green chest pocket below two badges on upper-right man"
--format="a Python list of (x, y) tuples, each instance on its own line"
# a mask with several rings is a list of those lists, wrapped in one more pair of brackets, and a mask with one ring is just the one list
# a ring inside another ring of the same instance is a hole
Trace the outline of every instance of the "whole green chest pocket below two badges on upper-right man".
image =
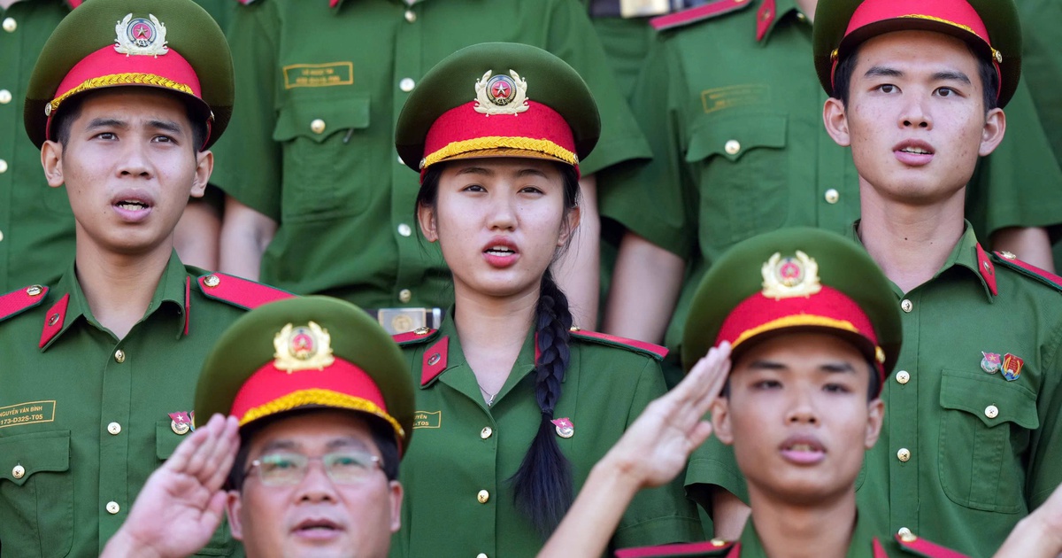
[(1040, 427), (1035, 394), (999, 374), (944, 370), (940, 406), (938, 460), (947, 497), (973, 509), (1024, 511), (1024, 455)]

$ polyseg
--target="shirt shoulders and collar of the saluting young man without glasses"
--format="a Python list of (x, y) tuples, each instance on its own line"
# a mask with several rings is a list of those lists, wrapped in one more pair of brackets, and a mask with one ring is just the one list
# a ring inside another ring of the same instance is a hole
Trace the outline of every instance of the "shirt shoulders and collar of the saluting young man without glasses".
[[(828, 528), (828, 526), (824, 526)], [(856, 527), (852, 531), (852, 543), (846, 558), (887, 558), (889, 556), (922, 556), (956, 558), (957, 553), (930, 543), (924, 539), (907, 536), (876, 536), (866, 520), (856, 519)], [(686, 558), (708, 558), (725, 556), (726, 558), (767, 558), (767, 551), (756, 532), (756, 527), (750, 519), (741, 530), (737, 541), (721, 541), (713, 539), (706, 542), (690, 544), (673, 544), (657, 547), (626, 548), (616, 553), (617, 558), (650, 558), (665, 556), (682, 556)]]

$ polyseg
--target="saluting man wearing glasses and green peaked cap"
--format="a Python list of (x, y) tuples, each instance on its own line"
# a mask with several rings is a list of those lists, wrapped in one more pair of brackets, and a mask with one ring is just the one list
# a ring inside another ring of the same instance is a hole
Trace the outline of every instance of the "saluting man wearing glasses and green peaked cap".
[(364, 311), (308, 297), (247, 314), (207, 357), (195, 416), (103, 556), (187, 556), (223, 513), (252, 558), (387, 556), (413, 386)]

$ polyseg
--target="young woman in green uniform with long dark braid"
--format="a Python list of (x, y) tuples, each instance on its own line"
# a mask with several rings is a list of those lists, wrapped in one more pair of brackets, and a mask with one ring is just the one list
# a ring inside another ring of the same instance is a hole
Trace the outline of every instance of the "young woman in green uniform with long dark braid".
[[(576, 71), (535, 47), (468, 47), (398, 118), (416, 215), (452, 272), (439, 329), (399, 335), (421, 430), (392, 556), (531, 556), (590, 467), (653, 398), (664, 352), (572, 327), (551, 264), (579, 225), (579, 164), (600, 120)], [(434, 247), (430, 248), (434, 250)], [(681, 486), (639, 495), (617, 546), (693, 540)]]

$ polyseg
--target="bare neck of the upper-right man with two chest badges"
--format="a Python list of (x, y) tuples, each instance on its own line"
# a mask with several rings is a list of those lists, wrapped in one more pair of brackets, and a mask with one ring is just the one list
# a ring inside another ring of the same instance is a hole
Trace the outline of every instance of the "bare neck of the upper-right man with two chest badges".
[(965, 188), (939, 203), (915, 205), (859, 182), (859, 237), (867, 252), (904, 292), (932, 278), (962, 237)]

